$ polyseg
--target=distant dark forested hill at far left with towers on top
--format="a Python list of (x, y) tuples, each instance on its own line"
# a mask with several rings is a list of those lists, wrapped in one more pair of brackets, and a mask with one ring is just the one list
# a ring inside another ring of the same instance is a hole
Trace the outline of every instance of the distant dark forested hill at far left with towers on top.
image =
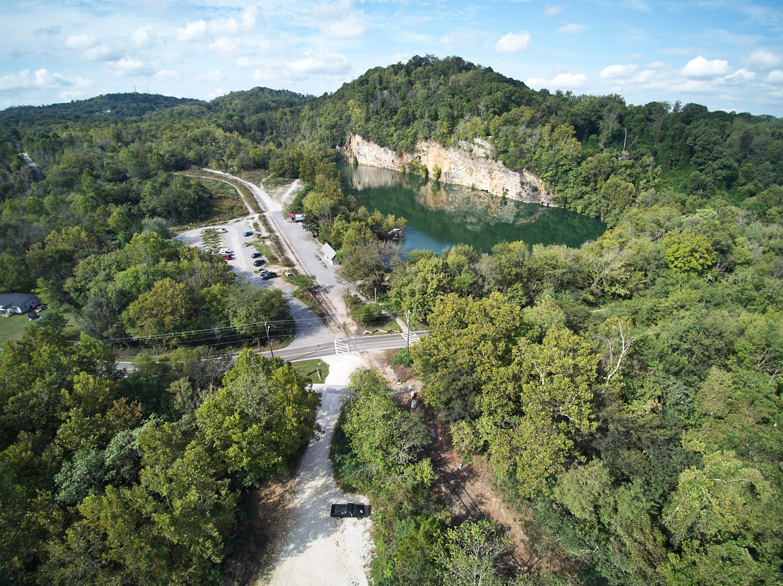
[(16, 106), (0, 110), (0, 124), (5, 127), (39, 125), (42, 122), (63, 124), (86, 117), (105, 120), (143, 116), (147, 112), (164, 110), (189, 102), (193, 98), (173, 98), (160, 94), (102, 94), (94, 98), (72, 100), (50, 106)]

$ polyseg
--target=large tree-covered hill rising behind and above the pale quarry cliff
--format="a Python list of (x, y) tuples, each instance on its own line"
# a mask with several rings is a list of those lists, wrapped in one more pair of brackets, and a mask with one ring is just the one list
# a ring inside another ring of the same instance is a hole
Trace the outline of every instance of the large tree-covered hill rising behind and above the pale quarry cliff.
[[(273, 116), (265, 92), (219, 100), (221, 128), (277, 146), (291, 138), (333, 148), (355, 132), (413, 153), (418, 141), (454, 146), (484, 138), (507, 167), (543, 178), (561, 207), (610, 225), (642, 193), (694, 211), (713, 197), (739, 204), (783, 184), (783, 119), (680, 102), (629, 106), (619, 95), (535, 92), (459, 57), (417, 56), (375, 67), (332, 95)], [(265, 114), (248, 115), (253, 110)]]

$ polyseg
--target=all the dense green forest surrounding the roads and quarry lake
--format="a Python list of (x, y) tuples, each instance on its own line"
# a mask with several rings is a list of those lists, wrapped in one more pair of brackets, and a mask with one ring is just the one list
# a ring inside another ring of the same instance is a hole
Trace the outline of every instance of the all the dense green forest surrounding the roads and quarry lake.
[[(403, 254), (385, 235), (404, 220), (357, 209), (334, 166), (347, 132), (409, 153), (484, 138), (608, 231)], [(780, 584), (783, 122), (534, 92), (431, 56), (319, 97), (0, 113), (0, 286), (73, 307), (83, 331), (70, 343), (55, 320), (3, 344), (5, 582), (219, 583), (237, 499), (314, 433), (292, 368), (249, 352), (229, 368), (186, 336), (241, 343), (247, 307), (287, 319), (279, 293), (171, 239), (212, 207), (177, 174), (191, 165), (302, 179), (292, 209), (339, 249), (341, 278), (431, 330), (413, 366), (455, 447), (488, 458), (531, 537), (578, 570), (511, 577), (492, 527), (453, 526), (420, 419), (363, 373), (335, 465), (373, 495), (377, 584)], [(126, 378), (124, 345), (169, 352)]]

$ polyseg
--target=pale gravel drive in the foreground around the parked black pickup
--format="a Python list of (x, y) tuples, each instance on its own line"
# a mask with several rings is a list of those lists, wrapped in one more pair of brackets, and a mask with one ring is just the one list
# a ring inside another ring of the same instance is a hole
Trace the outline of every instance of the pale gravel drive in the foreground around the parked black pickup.
[(294, 496), (293, 518), (268, 577), (257, 584), (270, 586), (345, 586), (367, 584), (366, 563), (372, 555), (372, 519), (332, 519), (334, 502), (366, 502), (345, 494), (334, 483), (329, 460), (334, 426), (340, 415), (340, 393), (348, 374), (363, 365), (358, 354), (327, 358), (327, 383), (314, 385), (323, 393), (318, 422), (324, 430), (312, 440), (302, 458)]

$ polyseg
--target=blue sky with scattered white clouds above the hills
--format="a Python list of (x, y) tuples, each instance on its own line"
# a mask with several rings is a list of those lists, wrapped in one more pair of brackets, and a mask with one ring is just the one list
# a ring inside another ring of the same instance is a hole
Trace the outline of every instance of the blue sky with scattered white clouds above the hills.
[(0, 108), (258, 85), (333, 92), (370, 67), (458, 55), (529, 84), (627, 103), (783, 116), (783, 2), (2, 3)]

